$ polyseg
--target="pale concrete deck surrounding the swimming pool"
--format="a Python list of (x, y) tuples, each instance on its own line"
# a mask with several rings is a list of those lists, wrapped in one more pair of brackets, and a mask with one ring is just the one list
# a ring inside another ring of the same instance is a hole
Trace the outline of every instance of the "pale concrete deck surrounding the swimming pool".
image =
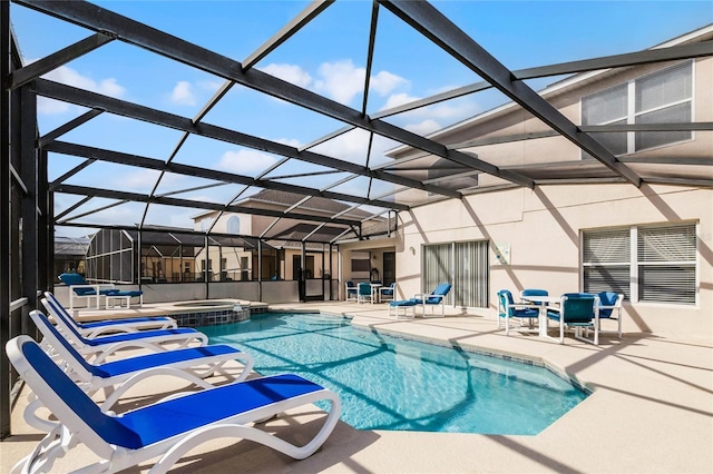
[[(455, 309), (447, 312), (446, 318), (399, 320), (387, 316), (385, 305), (323, 302), (271, 305), (271, 309), (346, 315), (353, 317), (352, 324), (375, 330), (541, 359), (594, 393), (536, 436), (358, 431), (339, 423), (323, 447), (304, 461), (251, 442), (221, 440), (191, 452), (176, 464), (175, 472), (713, 472), (711, 340), (629, 333), (621, 342), (605, 335), (598, 347), (572, 337), (558, 345), (535, 335), (507, 337), (497, 330), (492, 316), (456, 314)], [(166, 388), (163, 381), (162, 388)], [(25, 399), (21, 395), (12, 412), (13, 436), (0, 443), (3, 473), (41, 438), (22, 421)], [(319, 409), (291, 411), (266, 427), (301, 440), (316, 429), (311, 422), (321, 416)], [(78, 446), (58, 461), (53, 472), (80, 467), (91, 456)], [(147, 472), (149, 467), (144, 464), (128, 472)]]

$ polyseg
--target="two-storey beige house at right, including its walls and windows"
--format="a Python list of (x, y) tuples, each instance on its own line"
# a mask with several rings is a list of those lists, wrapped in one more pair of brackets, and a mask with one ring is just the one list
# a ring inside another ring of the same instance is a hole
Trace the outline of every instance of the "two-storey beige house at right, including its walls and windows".
[[(713, 26), (661, 47), (711, 39)], [(579, 73), (539, 93), (583, 128), (710, 124), (711, 85), (713, 58), (704, 57)], [(506, 181), (480, 174), (462, 199), (400, 213), (400, 296), (448, 280), (453, 283), (450, 305), (492, 313), (501, 288), (514, 294), (545, 288), (550, 295), (615, 290), (625, 295), (624, 330), (685, 334), (710, 342), (713, 132), (593, 136), (644, 184), (612, 178), (603, 164), (515, 103), (429, 136), (500, 169), (527, 175), (537, 186), (508, 188)], [(419, 152), (401, 147), (390, 156), (404, 160)], [(557, 179), (538, 179), (541, 170)], [(575, 179), (582, 176), (588, 179)]]

